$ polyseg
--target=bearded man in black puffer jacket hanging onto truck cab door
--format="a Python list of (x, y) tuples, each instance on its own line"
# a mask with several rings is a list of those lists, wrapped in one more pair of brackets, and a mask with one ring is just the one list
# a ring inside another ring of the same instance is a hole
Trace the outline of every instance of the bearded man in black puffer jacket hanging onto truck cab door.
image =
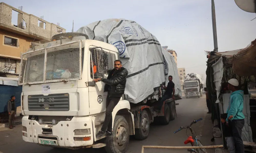
[(115, 60), (114, 69), (110, 71), (107, 79), (94, 79), (95, 82), (104, 82), (106, 84), (104, 91), (108, 91), (106, 99), (106, 116), (101, 130), (96, 134), (97, 139), (103, 137), (105, 133), (107, 133), (107, 135), (112, 135), (112, 111), (124, 94), (127, 74), (128, 71), (122, 67), (122, 62), (120, 60)]

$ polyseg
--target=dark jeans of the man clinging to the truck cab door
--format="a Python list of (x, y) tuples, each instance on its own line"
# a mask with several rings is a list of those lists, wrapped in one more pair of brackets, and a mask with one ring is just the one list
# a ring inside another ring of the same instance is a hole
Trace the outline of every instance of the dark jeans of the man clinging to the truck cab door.
[(109, 97), (109, 94), (106, 99), (106, 116), (101, 127), (101, 131), (108, 131), (112, 132), (112, 111), (115, 106), (118, 104), (121, 97)]

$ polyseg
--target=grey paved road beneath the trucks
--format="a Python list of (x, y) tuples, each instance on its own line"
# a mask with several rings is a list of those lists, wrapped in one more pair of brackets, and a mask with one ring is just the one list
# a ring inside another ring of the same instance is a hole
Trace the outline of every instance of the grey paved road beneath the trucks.
[[(201, 139), (203, 145), (212, 145), (210, 141), (212, 137), (212, 123), (210, 120), (210, 114), (207, 114), (207, 107), (205, 102), (205, 95), (202, 98), (182, 99), (177, 100), (179, 103), (177, 108), (177, 118), (174, 121), (170, 121), (168, 125), (153, 125), (150, 126), (150, 133), (147, 139), (143, 141), (137, 141), (130, 136), (130, 143), (126, 152), (141, 152), (142, 145), (161, 145), (161, 146), (184, 146), (184, 141), (187, 138), (186, 131), (182, 130), (176, 134), (173, 132), (180, 126), (188, 125), (191, 121), (198, 118), (204, 120), (196, 123), (194, 128), (196, 133)], [(201, 136), (200, 136), (201, 135)], [(188, 144), (189, 146), (189, 144)], [(103, 148), (100, 149), (53, 149), (51, 147), (43, 147), (33, 143), (27, 143), (22, 140), (21, 125), (16, 126), (10, 130), (7, 128), (0, 129), (0, 152), (20, 152), (20, 153), (42, 153), (42, 152), (67, 152), (67, 153), (98, 153), (105, 152)], [(186, 152), (186, 150), (183, 150)], [(146, 149), (145, 152), (172, 152), (171, 150), (164, 149)], [(176, 151), (175, 151), (176, 152)]]

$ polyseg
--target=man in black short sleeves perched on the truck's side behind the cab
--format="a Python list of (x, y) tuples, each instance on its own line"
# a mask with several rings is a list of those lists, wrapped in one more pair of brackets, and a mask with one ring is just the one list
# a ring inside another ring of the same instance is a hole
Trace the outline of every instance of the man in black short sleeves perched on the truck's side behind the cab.
[(175, 89), (174, 89), (174, 83), (173, 83), (173, 76), (172, 75), (169, 75), (168, 76), (168, 84), (167, 84), (167, 87), (164, 87), (164, 89), (166, 90), (159, 105), (158, 105), (158, 109), (161, 110), (162, 108), (162, 105), (164, 103), (164, 101), (166, 99), (169, 99), (169, 98), (173, 98), (173, 100), (175, 100), (175, 97), (174, 97), (174, 93), (175, 93)]

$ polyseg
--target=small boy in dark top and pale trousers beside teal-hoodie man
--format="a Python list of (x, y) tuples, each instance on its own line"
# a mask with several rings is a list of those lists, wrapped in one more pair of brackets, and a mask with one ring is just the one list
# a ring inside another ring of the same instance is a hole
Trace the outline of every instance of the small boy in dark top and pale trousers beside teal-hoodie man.
[(228, 151), (230, 153), (235, 153), (235, 145), (234, 145), (234, 139), (232, 136), (232, 128), (228, 125), (226, 122), (226, 119), (228, 118), (228, 114), (220, 114), (221, 123), (222, 123), (222, 131), (223, 131), (223, 137), (225, 137), (227, 142)]

